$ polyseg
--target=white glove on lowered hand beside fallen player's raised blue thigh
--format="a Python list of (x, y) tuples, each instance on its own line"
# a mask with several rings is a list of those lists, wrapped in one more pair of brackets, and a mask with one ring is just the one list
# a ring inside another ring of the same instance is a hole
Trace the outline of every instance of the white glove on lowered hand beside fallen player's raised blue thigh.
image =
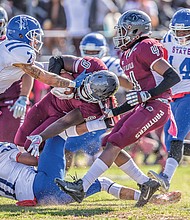
[(31, 135), (27, 136), (27, 139), (30, 140), (32, 143), (30, 144), (29, 148), (27, 149), (28, 152), (32, 151), (30, 154), (34, 157), (39, 157), (39, 147), (42, 143), (42, 137), (40, 135)]

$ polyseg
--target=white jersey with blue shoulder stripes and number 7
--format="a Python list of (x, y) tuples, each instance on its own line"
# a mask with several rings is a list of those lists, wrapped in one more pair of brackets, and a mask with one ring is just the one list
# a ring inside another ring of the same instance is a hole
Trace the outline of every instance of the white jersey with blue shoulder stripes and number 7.
[(33, 63), (36, 59), (36, 53), (28, 44), (16, 40), (2, 41), (0, 51), (0, 93), (4, 93), (24, 74), (24, 71), (12, 65), (14, 63)]

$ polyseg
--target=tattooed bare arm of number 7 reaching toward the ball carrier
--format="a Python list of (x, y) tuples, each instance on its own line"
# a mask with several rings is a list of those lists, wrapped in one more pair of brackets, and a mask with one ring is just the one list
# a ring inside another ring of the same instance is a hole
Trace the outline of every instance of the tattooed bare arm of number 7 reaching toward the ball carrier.
[(65, 79), (55, 73), (43, 70), (35, 64), (15, 63), (13, 66), (21, 68), (25, 73), (32, 76), (34, 79), (50, 86), (66, 88), (75, 87), (76, 84), (75, 82)]

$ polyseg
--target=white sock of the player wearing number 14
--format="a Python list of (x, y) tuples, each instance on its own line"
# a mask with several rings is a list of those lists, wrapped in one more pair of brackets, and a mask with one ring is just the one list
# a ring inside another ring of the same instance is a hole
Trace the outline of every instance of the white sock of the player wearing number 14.
[(164, 168), (164, 174), (166, 174), (168, 176), (168, 181), (170, 182), (174, 173), (175, 173), (175, 170), (176, 168), (178, 167), (178, 162), (173, 159), (173, 158), (168, 158), (167, 161), (166, 161), (166, 165), (165, 165), (165, 168)]

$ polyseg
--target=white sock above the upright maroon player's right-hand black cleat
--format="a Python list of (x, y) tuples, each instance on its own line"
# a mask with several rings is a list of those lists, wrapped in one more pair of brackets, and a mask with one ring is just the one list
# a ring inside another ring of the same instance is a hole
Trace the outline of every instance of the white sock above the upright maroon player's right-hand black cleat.
[(149, 178), (138, 168), (133, 159), (130, 159), (119, 168), (139, 184), (143, 184), (149, 180)]

